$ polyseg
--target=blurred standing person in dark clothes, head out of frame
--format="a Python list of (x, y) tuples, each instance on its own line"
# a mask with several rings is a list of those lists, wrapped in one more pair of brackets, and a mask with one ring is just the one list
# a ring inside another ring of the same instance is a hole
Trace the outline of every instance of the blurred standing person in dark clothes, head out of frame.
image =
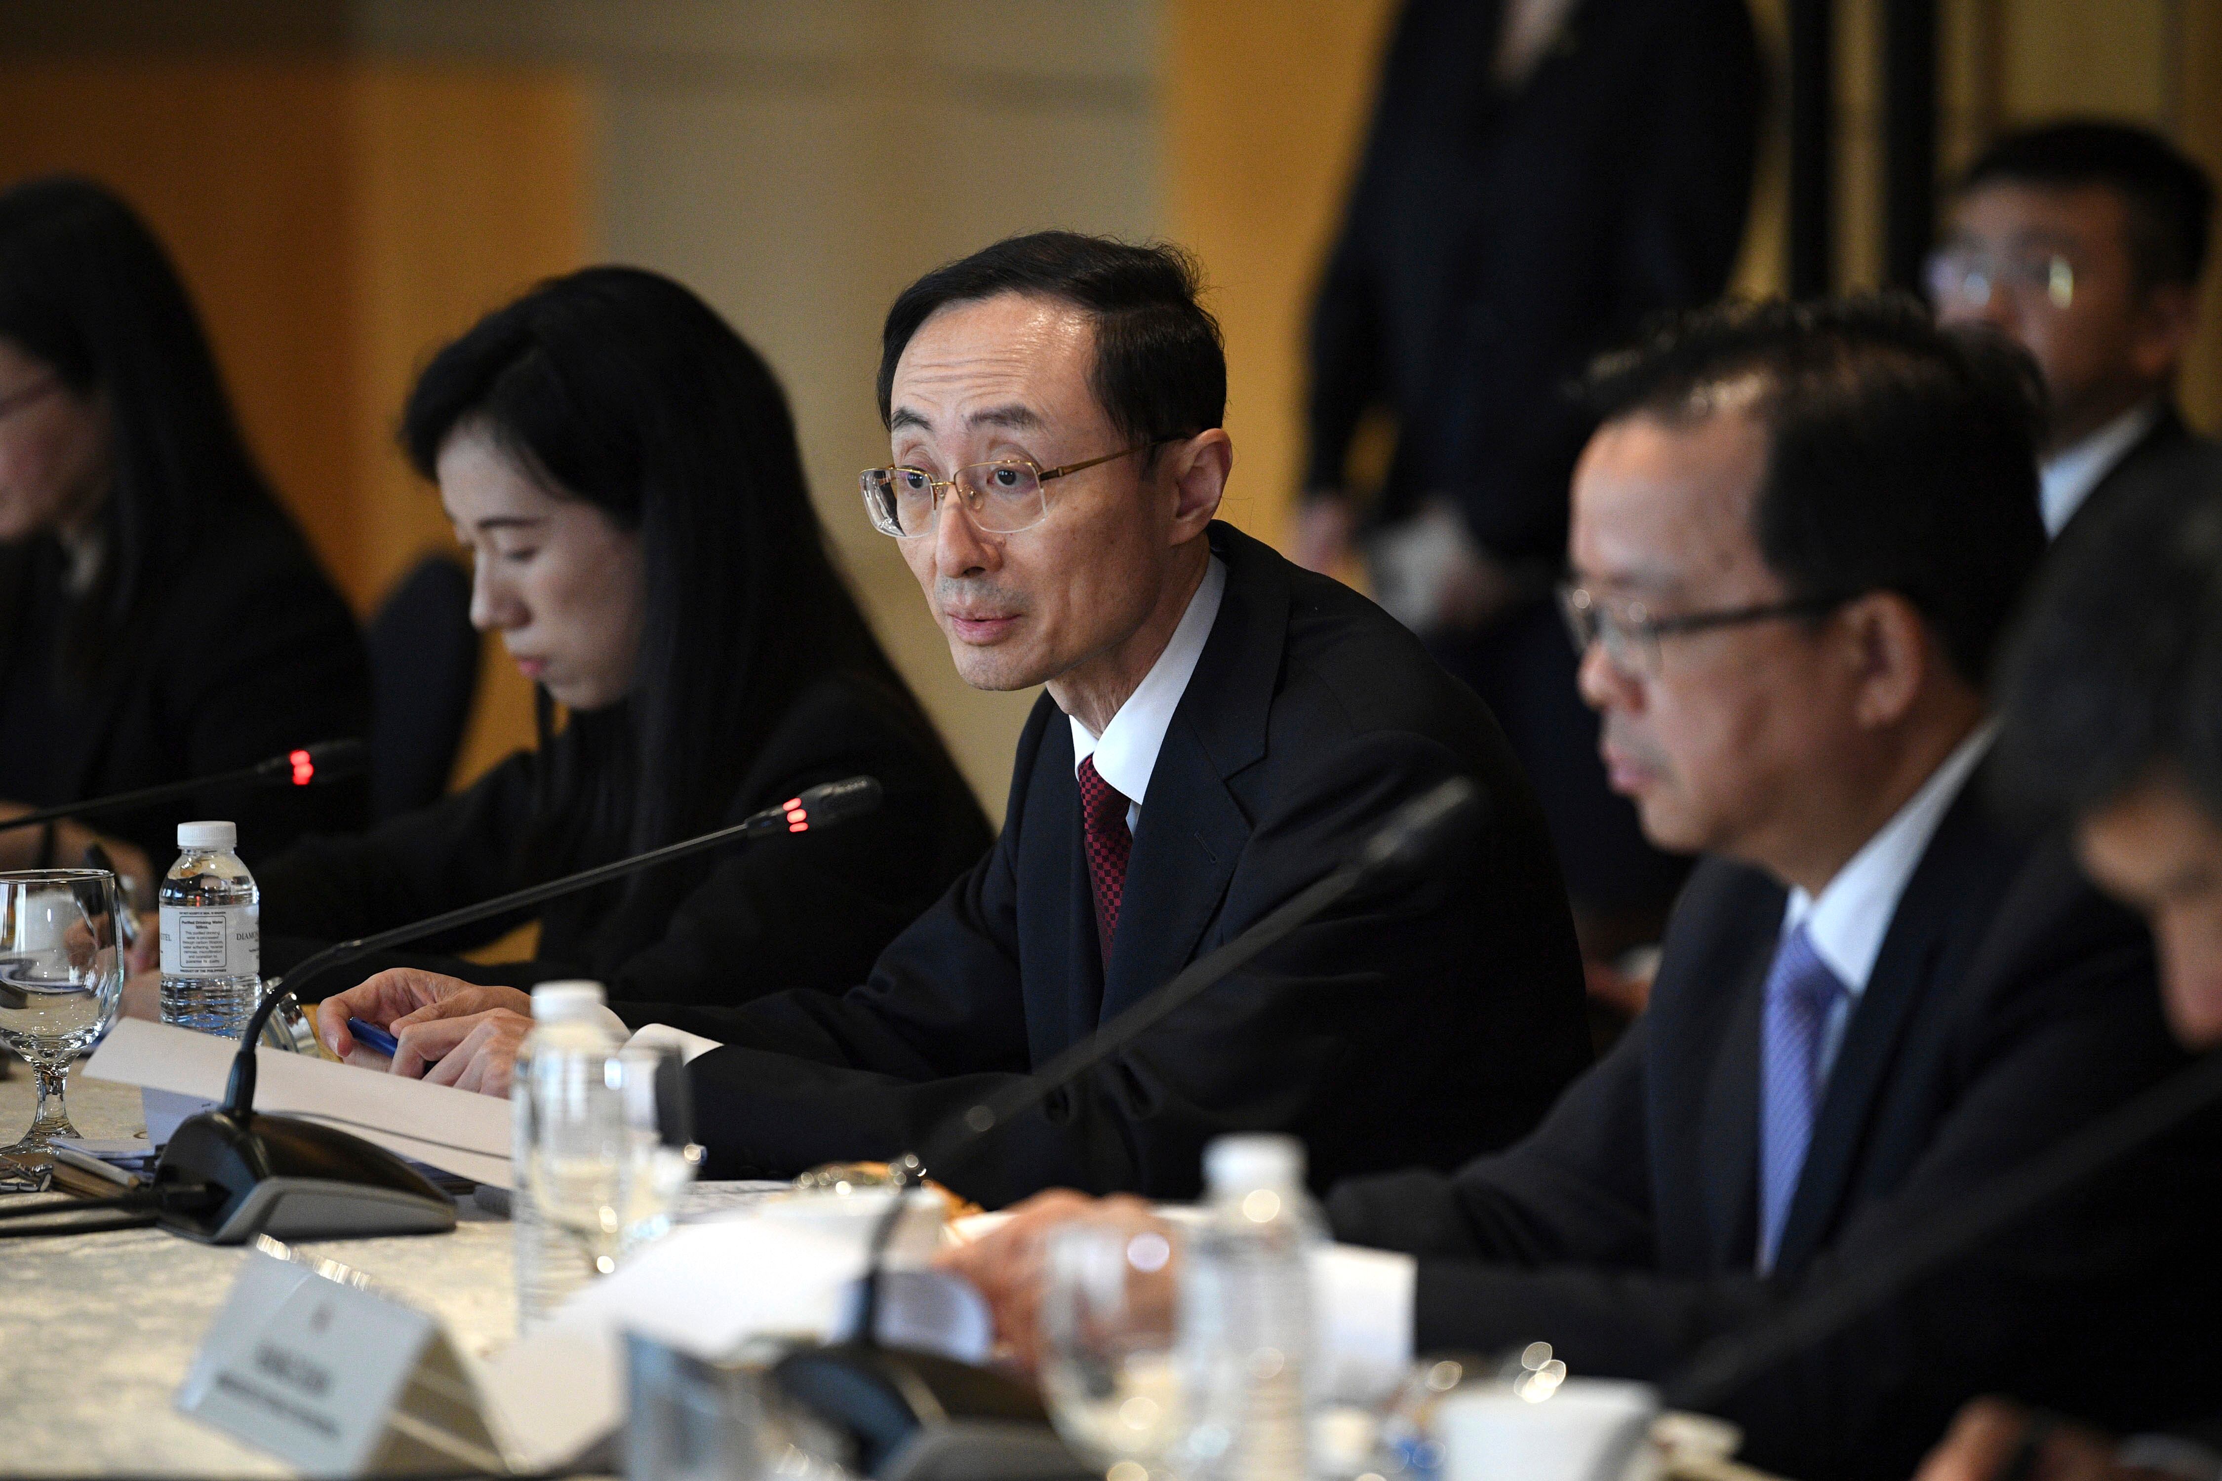
[[(1726, 286), (1760, 87), (1744, 0), (1409, 0), (1313, 306), (1295, 560), (1362, 546), (1382, 606), (1489, 702), (1620, 1008), (1640, 979), (1609, 964), (1658, 939), (1689, 866), (1607, 788), (1551, 611), (1589, 431), (1564, 384)], [(1395, 453), (1360, 511), (1369, 413)]]

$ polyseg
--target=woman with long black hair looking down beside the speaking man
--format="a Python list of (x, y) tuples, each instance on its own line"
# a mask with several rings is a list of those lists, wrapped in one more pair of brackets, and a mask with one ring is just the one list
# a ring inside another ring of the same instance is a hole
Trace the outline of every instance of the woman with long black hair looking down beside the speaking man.
[(533, 961), (469, 968), (651, 1001), (838, 990), (987, 848), (827, 555), (778, 380), (693, 293), (615, 266), (542, 284), (433, 357), (402, 444), (476, 557), (471, 619), (538, 686), (540, 744), (260, 870), (267, 959), (298, 959), (273, 937), (396, 926), (869, 773), (887, 799), (867, 817), (560, 899)]

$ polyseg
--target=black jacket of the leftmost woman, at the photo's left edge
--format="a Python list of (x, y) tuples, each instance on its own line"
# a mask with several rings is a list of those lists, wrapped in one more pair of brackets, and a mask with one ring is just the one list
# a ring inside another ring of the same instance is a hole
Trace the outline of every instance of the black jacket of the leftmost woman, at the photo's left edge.
[[(0, 797), (80, 802), (369, 735), (362, 635), (293, 526), (238, 511), (193, 535), (91, 688), (58, 682), (60, 551), (51, 540), (0, 546), (0, 697), (31, 728), (7, 731)], [(360, 828), (369, 788), (227, 788), (87, 822), (167, 870), (178, 824), (193, 817), (238, 822), (240, 855), (260, 868), (302, 833)]]

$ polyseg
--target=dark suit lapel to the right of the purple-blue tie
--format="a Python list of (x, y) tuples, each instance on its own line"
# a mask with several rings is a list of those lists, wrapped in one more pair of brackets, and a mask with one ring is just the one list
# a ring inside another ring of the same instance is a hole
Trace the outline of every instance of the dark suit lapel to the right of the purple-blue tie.
[(1898, 897), (1891, 928), (1866, 977), (1866, 993), (1851, 1010), (1835, 1066), (1829, 1070), (1829, 1086), (1813, 1115), (1813, 1141), (1798, 1175), (1798, 1192), (1791, 1195), (1775, 1270), (1804, 1268), (1833, 1228), (1851, 1192), (1866, 1128), (1891, 1066), (1898, 1064), (1906, 1024), (1935, 993), (1938, 966), (1953, 930), (1971, 917), (1980, 921), (1986, 915), (1969, 879), (1969, 868), (1980, 864), (1978, 790), (1980, 779), (1969, 779), (1960, 788), (1913, 877), (1906, 879), (1904, 895)]

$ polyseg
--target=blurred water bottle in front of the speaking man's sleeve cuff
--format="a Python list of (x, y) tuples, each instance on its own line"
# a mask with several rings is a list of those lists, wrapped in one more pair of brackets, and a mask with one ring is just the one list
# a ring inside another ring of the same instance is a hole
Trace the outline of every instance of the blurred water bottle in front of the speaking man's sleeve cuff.
[(624, 1208), (624, 1090), (609, 1075), (620, 1041), (602, 984), (542, 981), (509, 1090), (509, 1217), (518, 1239), (518, 1330), (547, 1321), (587, 1281), (618, 1268)]

